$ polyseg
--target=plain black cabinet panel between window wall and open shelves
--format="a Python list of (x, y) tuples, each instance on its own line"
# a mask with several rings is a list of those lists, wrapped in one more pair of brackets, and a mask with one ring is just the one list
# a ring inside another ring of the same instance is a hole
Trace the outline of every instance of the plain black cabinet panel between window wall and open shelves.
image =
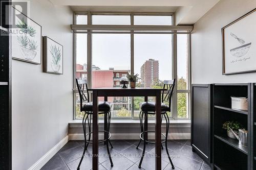
[(211, 151), (211, 85), (193, 85), (191, 145), (206, 162)]

